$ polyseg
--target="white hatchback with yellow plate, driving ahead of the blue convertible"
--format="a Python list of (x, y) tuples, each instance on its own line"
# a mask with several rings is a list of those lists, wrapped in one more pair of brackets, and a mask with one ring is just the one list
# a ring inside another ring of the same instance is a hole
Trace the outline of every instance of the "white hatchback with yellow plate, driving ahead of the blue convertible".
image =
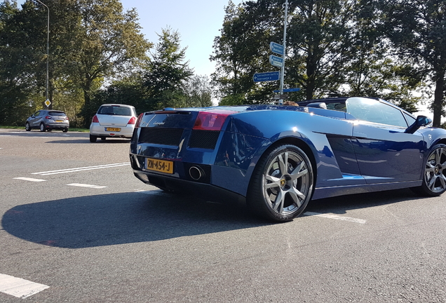
[(90, 124), (90, 142), (107, 137), (131, 138), (137, 120), (135, 107), (131, 105), (104, 104), (97, 109)]

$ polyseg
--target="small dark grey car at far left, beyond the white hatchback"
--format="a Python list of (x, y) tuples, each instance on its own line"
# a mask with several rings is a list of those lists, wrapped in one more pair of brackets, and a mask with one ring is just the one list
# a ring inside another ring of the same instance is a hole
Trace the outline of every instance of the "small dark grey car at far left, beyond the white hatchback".
[(62, 130), (67, 133), (69, 128), (69, 120), (67, 114), (62, 111), (52, 109), (42, 109), (30, 116), (25, 123), (25, 130), (38, 128), (41, 132), (53, 129)]

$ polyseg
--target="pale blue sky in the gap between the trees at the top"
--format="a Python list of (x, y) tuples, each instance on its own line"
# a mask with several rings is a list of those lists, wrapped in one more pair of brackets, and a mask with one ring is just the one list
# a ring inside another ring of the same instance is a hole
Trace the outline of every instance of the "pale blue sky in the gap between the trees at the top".
[[(242, 2), (232, 1), (234, 4)], [(24, 2), (18, 0), (19, 5)], [(209, 57), (214, 38), (219, 36), (222, 28), (224, 7), (229, 0), (121, 0), (121, 3), (124, 11), (136, 8), (141, 32), (148, 41), (158, 43), (157, 33), (170, 27), (180, 34), (182, 48), (187, 47), (186, 60), (195, 74), (210, 76), (214, 72), (215, 64)]]

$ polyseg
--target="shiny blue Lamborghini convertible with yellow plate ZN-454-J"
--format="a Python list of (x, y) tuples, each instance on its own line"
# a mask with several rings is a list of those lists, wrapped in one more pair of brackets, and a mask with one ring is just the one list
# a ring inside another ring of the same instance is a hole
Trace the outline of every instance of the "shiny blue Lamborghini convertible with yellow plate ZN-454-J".
[(289, 221), (310, 199), (405, 187), (442, 194), (446, 130), (429, 123), (367, 97), (167, 108), (140, 114), (130, 162), (147, 184)]

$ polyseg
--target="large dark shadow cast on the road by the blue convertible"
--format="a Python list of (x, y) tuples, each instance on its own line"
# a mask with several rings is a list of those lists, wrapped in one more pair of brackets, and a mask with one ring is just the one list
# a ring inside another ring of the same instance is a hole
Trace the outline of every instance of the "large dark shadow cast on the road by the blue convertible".
[(88, 248), (211, 234), (271, 224), (246, 208), (154, 191), (82, 196), (15, 206), (5, 231), (60, 248)]

